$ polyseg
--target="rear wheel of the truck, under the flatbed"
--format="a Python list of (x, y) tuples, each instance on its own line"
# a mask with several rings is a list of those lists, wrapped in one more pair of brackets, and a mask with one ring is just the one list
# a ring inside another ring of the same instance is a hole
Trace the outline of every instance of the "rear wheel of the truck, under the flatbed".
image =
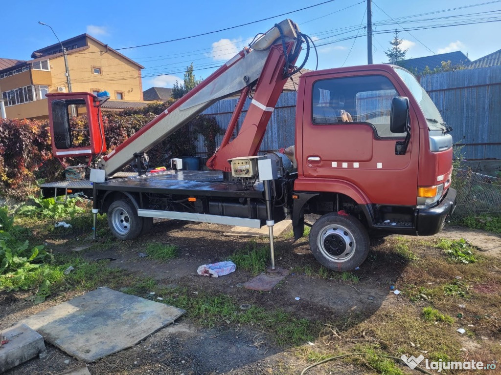
[(108, 226), (118, 239), (134, 239), (143, 230), (143, 218), (129, 200), (115, 200), (108, 208)]

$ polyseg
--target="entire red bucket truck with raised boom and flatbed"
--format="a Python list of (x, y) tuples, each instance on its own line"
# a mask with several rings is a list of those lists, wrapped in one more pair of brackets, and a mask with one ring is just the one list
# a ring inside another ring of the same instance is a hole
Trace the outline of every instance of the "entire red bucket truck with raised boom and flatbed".
[[(309, 37), (293, 21), (276, 24), (107, 154), (100, 110), (106, 94), (47, 94), (54, 156), (65, 166), (70, 157), (83, 163), (85, 178), (43, 184), (43, 195), (80, 192), (93, 199), (94, 218), (107, 213), (120, 239), (145, 233), (154, 217), (268, 225), (273, 266), (273, 225), (286, 217), (297, 240), (308, 225), (305, 214), (321, 215), (310, 231), (311, 251), (339, 271), (365, 260), (371, 236), (437, 233), (456, 200), (450, 187), (451, 128), (415, 77), (399, 66), (301, 75), (296, 144), (282, 150), (294, 168), (284, 167), (284, 154), (258, 155), (286, 80), (304, 65), (294, 66), (302, 44), (309, 52)], [(167, 171), (120, 173), (134, 160), (142, 165), (151, 147), (233, 95), (239, 99), (221, 145), (207, 161), (211, 170), (182, 170), (174, 160)], [(248, 110), (233, 137), (247, 97)], [(85, 146), (73, 144), (82, 129), (71, 128), (72, 105), (85, 107), (88, 115)]]

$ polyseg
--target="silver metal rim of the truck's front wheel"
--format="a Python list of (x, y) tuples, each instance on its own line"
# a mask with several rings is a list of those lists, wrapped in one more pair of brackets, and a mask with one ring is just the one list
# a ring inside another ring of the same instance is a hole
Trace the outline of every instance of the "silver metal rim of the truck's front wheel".
[(355, 254), (355, 237), (343, 225), (327, 225), (318, 235), (318, 249), (324, 257), (334, 262), (345, 262)]

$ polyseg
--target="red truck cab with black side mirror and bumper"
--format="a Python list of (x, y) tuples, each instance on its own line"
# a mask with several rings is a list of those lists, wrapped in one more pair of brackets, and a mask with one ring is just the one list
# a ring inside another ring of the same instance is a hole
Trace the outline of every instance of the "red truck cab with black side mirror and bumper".
[(451, 128), (416, 78), (399, 66), (364, 65), (307, 72), (299, 86), (295, 237), (305, 213), (336, 212), (323, 224), (330, 239), (312, 246), (332, 267), (343, 254), (329, 254), (329, 243), (354, 242), (333, 229), (340, 215), (358, 217), (372, 236), (441, 230), (455, 206)]

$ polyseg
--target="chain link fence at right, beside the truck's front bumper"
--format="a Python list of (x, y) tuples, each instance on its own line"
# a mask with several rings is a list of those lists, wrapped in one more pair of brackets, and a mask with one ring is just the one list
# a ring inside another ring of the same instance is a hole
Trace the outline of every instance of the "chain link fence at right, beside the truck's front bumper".
[(452, 184), (457, 190), (454, 216), (501, 213), (501, 178), (455, 169)]

